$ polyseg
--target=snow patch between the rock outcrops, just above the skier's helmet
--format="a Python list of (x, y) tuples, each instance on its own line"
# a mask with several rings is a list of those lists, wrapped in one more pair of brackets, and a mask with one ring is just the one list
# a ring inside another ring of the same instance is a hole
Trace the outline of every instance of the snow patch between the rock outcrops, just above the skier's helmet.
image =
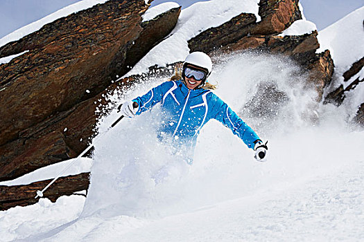
[(183, 61), (189, 54), (189, 39), (208, 28), (224, 24), (241, 12), (254, 13), (259, 21), (258, 3), (259, 0), (225, 0), (224, 4), (221, 4), (219, 0), (211, 0), (198, 2), (183, 9), (171, 36), (150, 50), (125, 76), (144, 73), (148, 71), (148, 67), (155, 64), (166, 66)]

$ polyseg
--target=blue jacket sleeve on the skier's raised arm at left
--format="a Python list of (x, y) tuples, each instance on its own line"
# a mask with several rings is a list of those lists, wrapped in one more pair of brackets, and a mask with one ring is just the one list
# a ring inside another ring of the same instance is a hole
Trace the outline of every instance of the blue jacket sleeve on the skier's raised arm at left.
[(137, 102), (139, 105), (139, 109), (137, 111), (137, 115), (143, 113), (144, 111), (150, 110), (155, 106), (155, 104), (162, 102), (164, 93), (173, 86), (173, 82), (164, 82), (159, 86), (155, 86), (153, 89), (150, 89), (148, 93), (135, 98), (132, 100), (133, 102)]

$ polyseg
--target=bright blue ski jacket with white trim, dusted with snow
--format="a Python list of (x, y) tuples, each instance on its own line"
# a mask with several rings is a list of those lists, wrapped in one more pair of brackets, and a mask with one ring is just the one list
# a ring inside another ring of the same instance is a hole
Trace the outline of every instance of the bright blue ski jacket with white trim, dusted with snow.
[(162, 104), (165, 119), (159, 131), (193, 147), (200, 129), (211, 118), (231, 129), (249, 148), (254, 149), (254, 141), (259, 140), (257, 133), (217, 95), (205, 89), (190, 90), (182, 80), (164, 82), (132, 101), (139, 104), (137, 115)]

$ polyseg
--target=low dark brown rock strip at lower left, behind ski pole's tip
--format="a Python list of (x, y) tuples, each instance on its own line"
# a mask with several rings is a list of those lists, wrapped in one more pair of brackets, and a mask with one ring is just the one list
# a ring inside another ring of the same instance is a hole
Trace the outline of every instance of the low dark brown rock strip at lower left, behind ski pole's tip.
[[(37, 190), (42, 190), (51, 180), (42, 180), (29, 185), (0, 186), (0, 211), (10, 207), (32, 205), (39, 201)], [(58, 180), (44, 192), (44, 198), (49, 198), (53, 203), (60, 196), (69, 196), (75, 192), (89, 188), (89, 174), (83, 173), (76, 176), (58, 178)]]

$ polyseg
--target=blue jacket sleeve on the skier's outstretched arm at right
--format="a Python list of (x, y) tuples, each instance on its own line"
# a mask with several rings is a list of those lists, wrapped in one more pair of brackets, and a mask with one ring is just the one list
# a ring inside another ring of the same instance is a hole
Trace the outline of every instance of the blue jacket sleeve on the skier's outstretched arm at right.
[(260, 140), (257, 133), (255, 133), (248, 124), (241, 120), (241, 118), (239, 118), (239, 116), (236, 115), (236, 113), (232, 111), (232, 109), (230, 109), (223, 100), (220, 100), (220, 98), (214, 94), (212, 95), (212, 118), (222, 122), (225, 127), (232, 130), (232, 133), (241, 138), (245, 145), (254, 149), (254, 141)]

